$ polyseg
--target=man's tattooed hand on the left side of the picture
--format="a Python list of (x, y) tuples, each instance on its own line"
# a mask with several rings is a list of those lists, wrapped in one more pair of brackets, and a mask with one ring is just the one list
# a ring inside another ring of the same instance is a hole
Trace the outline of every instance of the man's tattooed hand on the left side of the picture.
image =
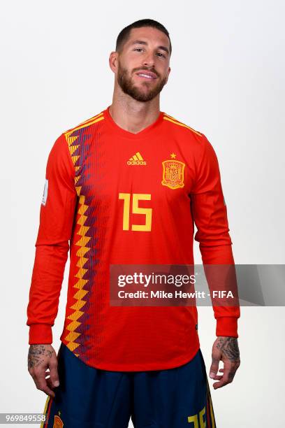
[[(48, 372), (47, 369), (50, 369)], [(28, 370), (38, 390), (55, 397), (52, 388), (59, 386), (57, 373), (57, 354), (52, 345), (30, 345)], [(45, 378), (45, 376), (50, 377)]]

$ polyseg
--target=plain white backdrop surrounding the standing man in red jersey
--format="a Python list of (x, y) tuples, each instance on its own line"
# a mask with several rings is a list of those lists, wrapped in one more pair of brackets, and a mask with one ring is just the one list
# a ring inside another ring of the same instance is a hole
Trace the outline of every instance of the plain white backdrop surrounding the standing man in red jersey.
[[(0, 413), (43, 411), (27, 371), (26, 310), (47, 155), (62, 131), (111, 104), (108, 57), (131, 22), (152, 18), (170, 32), (161, 110), (217, 152), (235, 263), (284, 264), (284, 13), (282, 0), (1, 2)], [(198, 245), (195, 255), (200, 263)], [(68, 264), (56, 350), (67, 274)], [(198, 310), (208, 370), (215, 322), (212, 308)], [(241, 313), (240, 369), (211, 387), (217, 427), (283, 427), (285, 309)]]

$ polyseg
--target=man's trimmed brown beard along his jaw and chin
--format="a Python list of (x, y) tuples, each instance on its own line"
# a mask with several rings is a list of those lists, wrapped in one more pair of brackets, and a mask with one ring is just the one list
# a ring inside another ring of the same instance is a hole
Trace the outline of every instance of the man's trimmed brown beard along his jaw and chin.
[[(140, 87), (136, 86), (133, 83), (133, 80), (128, 74), (128, 70), (124, 69), (121, 64), (119, 64), (118, 66), (117, 82), (119, 86), (125, 94), (128, 94), (133, 99), (136, 99), (136, 101), (146, 102), (154, 99), (154, 97), (156, 97), (156, 95), (161, 92), (163, 86), (166, 84), (166, 78), (160, 80), (160, 78), (157, 77), (157, 80), (158, 83), (156, 84), (156, 86), (152, 87), (152, 89), (149, 89), (147, 91), (141, 90)], [(149, 85), (147, 82), (143, 82), (142, 84), (144, 86)]]

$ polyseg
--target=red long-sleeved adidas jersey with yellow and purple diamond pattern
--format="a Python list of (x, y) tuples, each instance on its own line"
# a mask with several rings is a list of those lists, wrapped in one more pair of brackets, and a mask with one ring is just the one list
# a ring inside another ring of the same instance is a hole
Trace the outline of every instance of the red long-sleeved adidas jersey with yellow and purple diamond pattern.
[[(109, 107), (61, 134), (47, 159), (29, 344), (52, 343), (70, 248), (60, 339), (78, 358), (115, 371), (189, 362), (200, 346), (196, 306), (110, 306), (110, 264), (193, 264), (194, 222), (203, 264), (233, 264), (219, 164), (204, 134), (161, 111), (133, 134)], [(239, 317), (239, 306), (214, 306), (217, 336), (238, 337)]]

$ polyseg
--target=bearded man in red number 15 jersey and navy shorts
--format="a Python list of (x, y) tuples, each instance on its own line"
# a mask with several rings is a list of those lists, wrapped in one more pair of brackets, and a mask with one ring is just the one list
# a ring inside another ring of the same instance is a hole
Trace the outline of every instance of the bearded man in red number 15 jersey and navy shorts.
[[(203, 264), (234, 264), (214, 149), (160, 110), (171, 50), (159, 22), (124, 28), (109, 59), (112, 104), (61, 134), (48, 157), (27, 308), (29, 373), (48, 395), (43, 427), (125, 428), (130, 417), (136, 428), (216, 426), (196, 306), (110, 305), (111, 265), (193, 264), (193, 222)], [(214, 317), (216, 389), (240, 364), (240, 308), (214, 307)]]

